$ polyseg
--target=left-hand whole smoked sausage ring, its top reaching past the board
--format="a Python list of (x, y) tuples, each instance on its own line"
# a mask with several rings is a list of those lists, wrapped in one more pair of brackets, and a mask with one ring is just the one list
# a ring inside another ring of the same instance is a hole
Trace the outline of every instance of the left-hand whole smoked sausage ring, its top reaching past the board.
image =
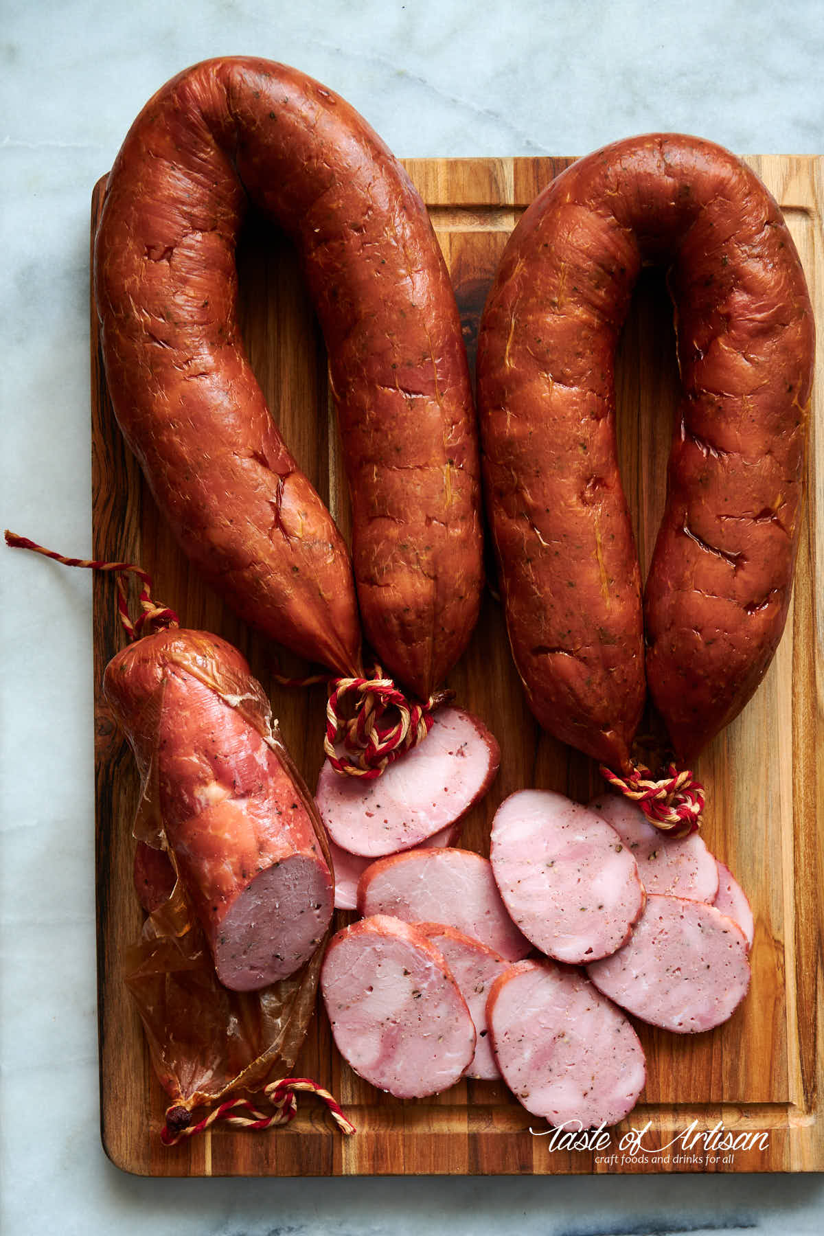
[(247, 197), (295, 241), (326, 340), (366, 634), (425, 700), (479, 604), (461, 324), (405, 172), (348, 104), (295, 69), (198, 64), (149, 100), (124, 142), (95, 243), (119, 424), (183, 549), (241, 616), (357, 672), (346, 548), (272, 424), (240, 337)]

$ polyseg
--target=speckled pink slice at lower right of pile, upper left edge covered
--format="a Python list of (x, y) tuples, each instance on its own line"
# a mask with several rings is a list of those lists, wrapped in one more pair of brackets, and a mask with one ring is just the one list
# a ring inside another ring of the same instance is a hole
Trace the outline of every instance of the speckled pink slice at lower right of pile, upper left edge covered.
[(697, 1035), (726, 1021), (750, 985), (744, 933), (715, 906), (651, 894), (628, 944), (587, 974), (652, 1026)]

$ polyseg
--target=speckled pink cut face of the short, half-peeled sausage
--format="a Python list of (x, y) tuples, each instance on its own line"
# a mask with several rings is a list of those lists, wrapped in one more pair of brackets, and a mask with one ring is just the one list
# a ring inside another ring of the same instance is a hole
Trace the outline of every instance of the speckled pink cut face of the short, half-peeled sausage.
[(257, 991), (294, 974), (332, 917), (332, 884), (320, 859), (294, 854), (254, 876), (215, 934), (215, 970), (232, 991)]

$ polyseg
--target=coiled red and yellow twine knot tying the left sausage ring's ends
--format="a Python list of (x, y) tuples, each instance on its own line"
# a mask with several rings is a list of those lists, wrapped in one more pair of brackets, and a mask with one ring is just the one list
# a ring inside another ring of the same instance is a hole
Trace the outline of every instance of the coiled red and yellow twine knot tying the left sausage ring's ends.
[(435, 709), (451, 691), (426, 703), (408, 700), (377, 665), (372, 677), (332, 679), (326, 705), (324, 750), (336, 772), (367, 781), (380, 776), (392, 760), (423, 743)]

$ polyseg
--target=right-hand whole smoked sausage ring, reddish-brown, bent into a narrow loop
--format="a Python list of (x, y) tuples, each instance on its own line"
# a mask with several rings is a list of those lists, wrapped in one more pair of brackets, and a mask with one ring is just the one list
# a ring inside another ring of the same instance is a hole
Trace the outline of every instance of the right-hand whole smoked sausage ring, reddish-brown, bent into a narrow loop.
[[(614, 352), (642, 262), (668, 267), (683, 383), (646, 583), (615, 452)], [(486, 305), (478, 403), (509, 637), (541, 724), (630, 769), (646, 681), (691, 759), (783, 630), (813, 316), (781, 211), (694, 137), (579, 159), (515, 229)]]

